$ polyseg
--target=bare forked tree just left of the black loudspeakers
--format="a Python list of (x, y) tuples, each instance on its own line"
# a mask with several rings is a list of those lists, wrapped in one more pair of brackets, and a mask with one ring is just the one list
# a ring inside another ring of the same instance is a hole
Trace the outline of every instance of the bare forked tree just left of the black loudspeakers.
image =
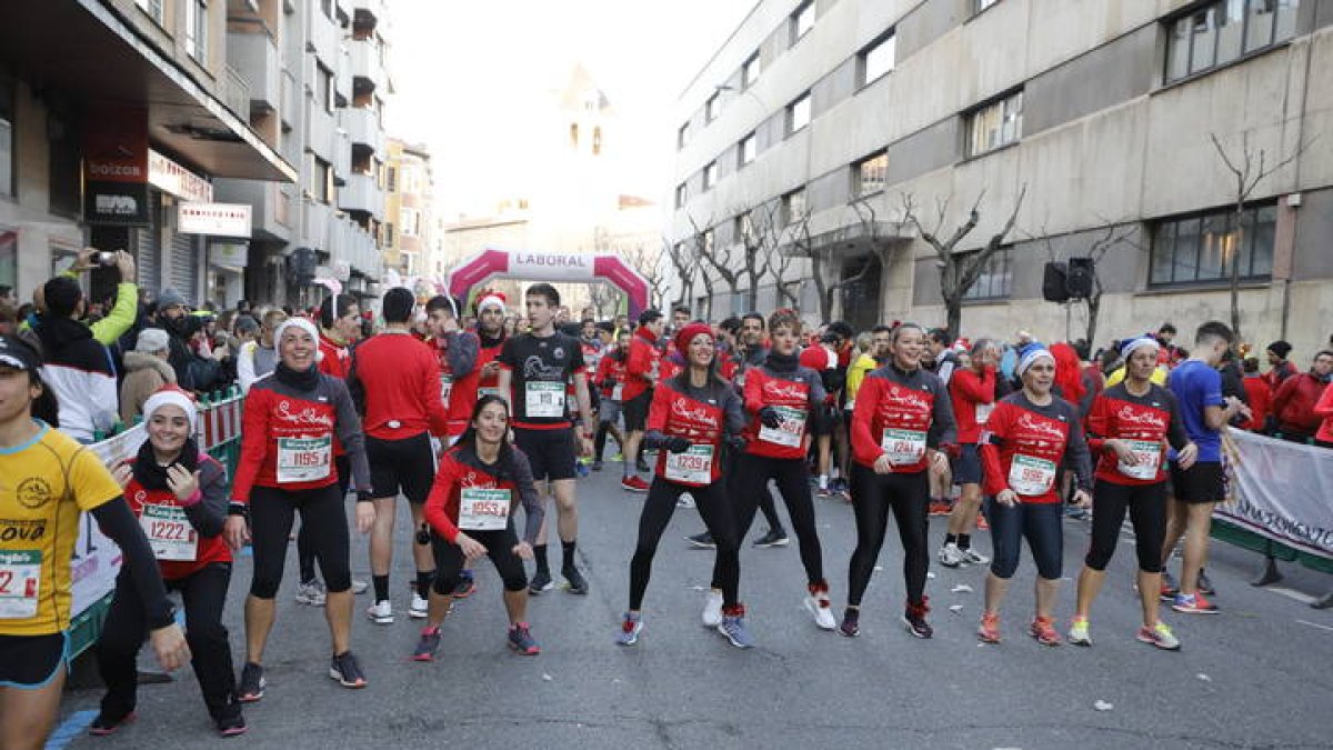
[(936, 200), (934, 228), (926, 230), (917, 216), (912, 194), (902, 195), (902, 223), (914, 227), (921, 239), (934, 250), (936, 266), (940, 268), (940, 295), (944, 298), (944, 308), (948, 314), (946, 327), (950, 338), (958, 335), (958, 328), (962, 324), (962, 298), (977, 283), (977, 278), (981, 276), (981, 271), (989, 263), (990, 256), (1000, 251), (1005, 238), (1013, 231), (1013, 224), (1018, 220), (1018, 210), (1022, 207), (1022, 199), (1028, 195), (1028, 185), (1024, 184), (1018, 191), (1018, 200), (1014, 202), (1009, 219), (997, 234), (990, 236), (986, 244), (976, 252), (956, 254), (953, 248), (981, 222), (981, 202), (985, 199), (985, 191), (977, 195), (976, 203), (968, 211), (968, 220), (956, 228), (948, 239), (940, 239), (940, 236), (942, 235), (945, 215), (949, 210), (949, 199)]

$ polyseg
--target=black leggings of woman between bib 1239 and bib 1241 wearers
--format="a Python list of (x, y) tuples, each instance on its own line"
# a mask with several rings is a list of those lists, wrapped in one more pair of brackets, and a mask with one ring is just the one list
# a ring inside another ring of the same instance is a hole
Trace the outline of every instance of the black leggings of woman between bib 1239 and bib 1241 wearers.
[[(809, 583), (824, 583), (824, 552), (820, 550), (820, 535), (814, 530), (814, 500), (810, 499), (810, 470), (804, 459), (766, 458), (741, 454), (736, 458), (734, 479), (730, 483), (736, 499), (736, 539), (744, 539), (754, 523), (754, 511), (765, 495), (769, 495), (768, 480), (777, 482), (777, 491), (786, 503), (786, 514), (792, 516), (792, 530), (801, 546), (801, 565)], [(772, 495), (769, 495), (772, 502)], [(776, 515), (776, 512), (774, 512)], [(778, 526), (774, 526), (778, 528)], [(721, 587), (720, 567), (714, 566), (713, 586)]]

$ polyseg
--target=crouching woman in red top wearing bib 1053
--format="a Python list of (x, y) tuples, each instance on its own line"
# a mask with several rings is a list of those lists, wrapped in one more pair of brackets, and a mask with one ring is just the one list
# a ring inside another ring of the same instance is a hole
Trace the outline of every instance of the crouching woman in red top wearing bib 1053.
[[(528, 578), (520, 558), (532, 556), (545, 511), (532, 482), (532, 468), (523, 451), (508, 439), (509, 407), (500, 396), (481, 396), (459, 442), (444, 452), (425, 502), (427, 538), (435, 554), (436, 578), (431, 609), (421, 639), (412, 653), (419, 662), (435, 659), (440, 647), (440, 623), (453, 606), (465, 560), (491, 558), (504, 581), (504, 606), (509, 615), (509, 647), (524, 655), (541, 651), (528, 629)], [(513, 528), (517, 506), (527, 515), (523, 540)], [(425, 531), (423, 531), (425, 534)]]

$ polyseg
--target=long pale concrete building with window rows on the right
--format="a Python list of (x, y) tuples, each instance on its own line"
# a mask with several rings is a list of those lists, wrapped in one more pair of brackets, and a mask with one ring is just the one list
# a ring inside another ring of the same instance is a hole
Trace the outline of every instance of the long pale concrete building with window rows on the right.
[[(1022, 195), (961, 335), (1080, 338), (1084, 306), (1045, 302), (1041, 282), (1082, 256), (1098, 259), (1098, 342), (1228, 320), (1233, 268), (1249, 340), (1308, 355), (1330, 332), (1330, 0), (761, 0), (682, 92), (677, 125), (666, 232), (734, 247), (769, 210), (788, 272), (760, 280), (761, 307), (818, 318), (813, 255), (826, 283), (857, 279), (833, 316), (944, 324), (940, 260), (904, 198), (949, 236), (981, 196), (966, 254)], [(1269, 172), (1240, 212), (1214, 139), (1250, 177), (1261, 156)], [(713, 276), (712, 294), (697, 275), (673, 294), (738, 311), (745, 295)]]

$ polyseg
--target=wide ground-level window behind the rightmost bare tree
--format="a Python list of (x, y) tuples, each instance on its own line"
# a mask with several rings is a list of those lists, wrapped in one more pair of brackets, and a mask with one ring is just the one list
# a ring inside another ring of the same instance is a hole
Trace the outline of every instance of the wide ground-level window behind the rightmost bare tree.
[(1273, 240), (1277, 206), (1248, 207), (1237, 236), (1232, 210), (1166, 219), (1153, 230), (1149, 286), (1225, 282), (1233, 264), (1241, 279), (1266, 279), (1273, 274)]

